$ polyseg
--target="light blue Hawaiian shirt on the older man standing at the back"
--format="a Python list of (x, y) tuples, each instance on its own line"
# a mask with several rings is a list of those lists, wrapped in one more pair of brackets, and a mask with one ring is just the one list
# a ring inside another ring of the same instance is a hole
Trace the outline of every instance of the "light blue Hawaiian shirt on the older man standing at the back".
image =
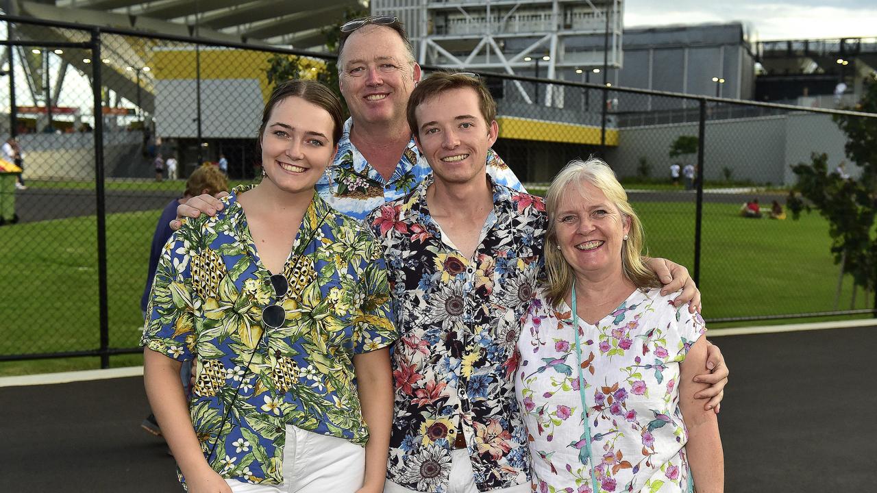
[[(361, 221), (384, 203), (408, 195), (432, 174), (432, 168), (417, 150), (412, 136), (396, 171), (385, 180), (351, 143), (352, 125), (353, 118), (348, 118), (338, 143), (338, 154), (317, 182), (317, 192), (336, 211)], [(488, 149), (487, 160), (488, 175), (495, 183), (526, 192), (524, 185), (493, 149)]]

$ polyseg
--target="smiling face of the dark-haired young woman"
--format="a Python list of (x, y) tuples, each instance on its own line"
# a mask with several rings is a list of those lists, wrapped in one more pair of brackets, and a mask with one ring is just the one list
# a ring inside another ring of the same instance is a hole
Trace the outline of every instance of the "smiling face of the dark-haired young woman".
[(263, 182), (289, 193), (312, 193), (335, 155), (334, 129), (328, 111), (301, 97), (275, 104), (261, 136)]

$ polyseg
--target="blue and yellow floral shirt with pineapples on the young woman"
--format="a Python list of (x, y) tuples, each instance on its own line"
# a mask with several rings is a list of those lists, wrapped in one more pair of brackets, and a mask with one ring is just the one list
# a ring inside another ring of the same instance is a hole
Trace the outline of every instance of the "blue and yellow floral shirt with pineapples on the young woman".
[[(216, 217), (189, 219), (165, 245), (142, 344), (175, 360), (197, 357), (189, 411), (210, 466), (279, 484), (285, 425), (366, 444), (353, 357), (398, 332), (372, 232), (315, 193), (278, 299), (238, 202), (244, 192), (232, 190)], [(262, 325), (270, 304), (285, 309), (278, 328)]]

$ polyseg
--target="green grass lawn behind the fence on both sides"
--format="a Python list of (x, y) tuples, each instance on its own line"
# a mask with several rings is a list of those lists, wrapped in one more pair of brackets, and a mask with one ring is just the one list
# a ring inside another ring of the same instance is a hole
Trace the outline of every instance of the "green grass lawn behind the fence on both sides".
[[(635, 203), (649, 254), (693, 269), (694, 203)], [(838, 267), (829, 254), (828, 225), (816, 214), (800, 221), (745, 219), (736, 204), (704, 204), (702, 273), (706, 318), (829, 311)], [(160, 211), (107, 218), (110, 346), (134, 347), (142, 321), (149, 245)], [(98, 288), (95, 218), (69, 218), (0, 229), (0, 354), (95, 349)], [(11, 268), (6, 268), (10, 266)], [(841, 309), (850, 307), (845, 280)], [(865, 308), (859, 293), (857, 308)], [(774, 322), (775, 323), (775, 322)], [(760, 325), (760, 323), (758, 323)], [(111, 358), (113, 366), (141, 356)], [(96, 358), (0, 363), (0, 375), (97, 368)]]

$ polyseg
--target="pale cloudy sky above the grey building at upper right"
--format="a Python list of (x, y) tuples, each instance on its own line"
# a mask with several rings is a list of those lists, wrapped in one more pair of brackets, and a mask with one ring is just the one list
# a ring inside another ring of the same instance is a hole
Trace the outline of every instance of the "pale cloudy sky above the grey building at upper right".
[(874, 0), (627, 0), (624, 25), (700, 24), (740, 21), (751, 39), (877, 37)]

